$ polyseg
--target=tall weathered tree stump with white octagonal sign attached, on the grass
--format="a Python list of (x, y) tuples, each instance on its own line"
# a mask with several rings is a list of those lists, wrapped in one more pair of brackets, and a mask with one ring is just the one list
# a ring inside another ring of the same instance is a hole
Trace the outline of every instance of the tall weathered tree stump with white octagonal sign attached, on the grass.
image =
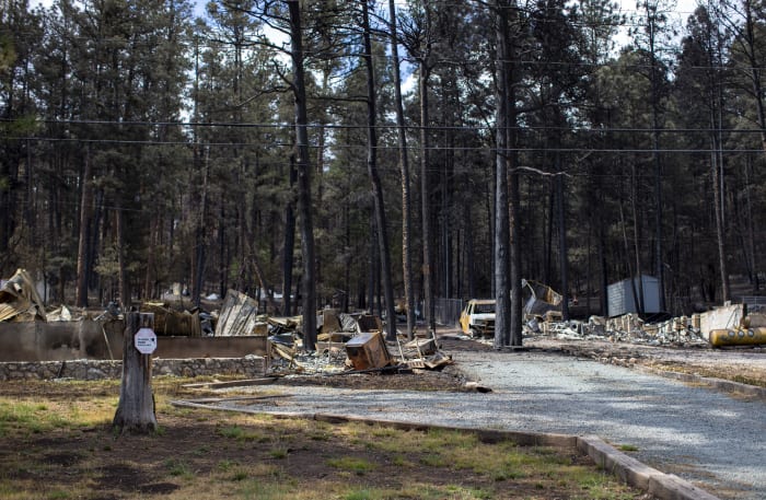
[(112, 421), (112, 428), (120, 434), (146, 434), (154, 432), (158, 427), (152, 393), (152, 354), (142, 354), (135, 345), (139, 329), (153, 327), (153, 313), (127, 313), (119, 404)]

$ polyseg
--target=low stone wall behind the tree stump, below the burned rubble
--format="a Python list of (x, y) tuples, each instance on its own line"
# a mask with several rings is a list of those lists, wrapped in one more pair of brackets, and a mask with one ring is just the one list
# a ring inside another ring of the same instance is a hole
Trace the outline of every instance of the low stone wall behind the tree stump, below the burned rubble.
[[(259, 377), (266, 374), (266, 358), (196, 358), (152, 360), (152, 375), (243, 375)], [(121, 361), (69, 360), (0, 363), (0, 381), (30, 379), (100, 380), (123, 376)]]

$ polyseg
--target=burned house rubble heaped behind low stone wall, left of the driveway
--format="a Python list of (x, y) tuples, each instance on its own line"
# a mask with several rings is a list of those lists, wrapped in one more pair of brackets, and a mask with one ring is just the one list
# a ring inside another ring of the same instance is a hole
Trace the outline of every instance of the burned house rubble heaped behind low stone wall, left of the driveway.
[[(375, 315), (317, 311), (317, 348), (303, 348), (302, 316), (259, 314), (258, 302), (229, 290), (206, 311), (186, 309), (181, 293), (162, 302), (143, 302), (161, 340), (158, 359), (245, 358), (262, 356), (265, 373), (298, 374), (439, 370), (451, 363), (436, 337), (396, 344), (383, 340)], [(206, 305), (210, 305), (208, 302)], [(0, 361), (118, 360), (125, 318), (115, 303), (85, 311), (59, 306), (46, 314), (30, 275), (20, 269), (0, 290)]]

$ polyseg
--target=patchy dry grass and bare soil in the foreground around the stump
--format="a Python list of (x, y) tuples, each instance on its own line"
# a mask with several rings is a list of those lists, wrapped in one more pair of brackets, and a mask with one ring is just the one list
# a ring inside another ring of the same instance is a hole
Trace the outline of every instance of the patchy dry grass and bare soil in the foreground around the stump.
[(154, 383), (159, 432), (123, 437), (114, 381), (2, 383), (0, 498), (645, 498), (573, 450), (176, 408), (183, 382)]

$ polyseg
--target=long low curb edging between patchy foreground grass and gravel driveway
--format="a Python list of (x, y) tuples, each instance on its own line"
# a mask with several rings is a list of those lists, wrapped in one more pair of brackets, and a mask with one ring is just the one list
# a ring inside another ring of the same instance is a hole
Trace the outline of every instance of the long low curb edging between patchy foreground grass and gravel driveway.
[(648, 493), (659, 498), (660, 500), (720, 500), (718, 497), (708, 493), (688, 482), (685, 479), (672, 474), (661, 473), (648, 465), (637, 461), (636, 458), (626, 455), (607, 444), (595, 435), (570, 435), (570, 434), (554, 434), (543, 432), (519, 432), (519, 431), (502, 431), (490, 430), (471, 427), (455, 426), (432, 426), (419, 422), (404, 422), (397, 420), (383, 420), (364, 417), (351, 417), (347, 415), (336, 414), (312, 414), (312, 412), (277, 412), (251, 410), (246, 408), (230, 408), (223, 406), (210, 406), (195, 402), (171, 402), (173, 406), (206, 408), (224, 411), (240, 411), (256, 415), (270, 415), (278, 419), (304, 418), (328, 423), (367, 423), (370, 426), (384, 426), (399, 430), (428, 430), (442, 429), (460, 432), (475, 432), (479, 440), (486, 443), (499, 442), (502, 440), (513, 440), (524, 446), (560, 446), (577, 449), (596, 463), (599, 467), (604, 469), (623, 482), (647, 491)]

